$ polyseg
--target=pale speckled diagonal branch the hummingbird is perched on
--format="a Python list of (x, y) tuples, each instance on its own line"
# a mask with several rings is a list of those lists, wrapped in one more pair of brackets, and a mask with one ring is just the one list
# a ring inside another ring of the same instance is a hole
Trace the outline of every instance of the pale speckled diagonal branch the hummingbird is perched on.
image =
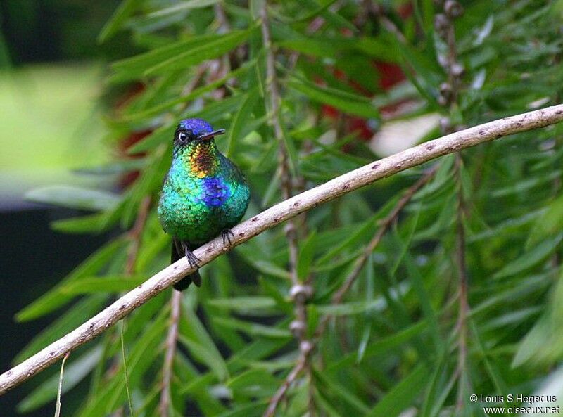
[[(341, 195), (372, 184), (378, 179), (391, 177), (391, 175), (397, 172), (422, 165), (424, 162), (429, 162), (448, 153), (455, 153), (460, 149), (470, 148), (479, 145), (479, 143), (493, 141), (502, 136), (516, 134), (521, 131), (546, 127), (561, 121), (563, 121), (563, 105), (559, 104), (480, 124), (476, 127), (470, 127), (469, 129), (422, 143), (354, 169), (320, 186), (282, 201), (256, 214), (251, 219), (246, 220), (246, 222), (235, 226), (232, 229), (235, 236), (232, 240), (232, 245), (226, 246), (222, 243), (221, 238), (215, 238), (201, 248), (198, 248), (195, 251), (195, 255), (201, 259), (201, 265), (208, 264), (234, 246), (246, 242), (246, 240), (257, 236), (267, 229), (271, 229), (281, 222), (311, 210), (317, 207), (317, 205), (335, 200), (341, 197)], [(120, 297), (119, 300), (106, 307), (106, 309), (96, 314), (96, 316), (74, 331), (51, 343), (51, 345), (26, 359), (21, 364), (11, 368), (11, 370), (1, 374), (0, 394), (4, 394), (4, 392), (16, 385), (23, 383), (23, 381), (61, 359), (70, 350), (84, 345), (87, 341), (103, 333), (103, 331), (113, 326), (134, 309), (151, 300), (158, 293), (172, 286), (173, 283), (177, 283), (193, 271), (194, 268), (189, 266), (186, 259), (180, 259), (175, 264), (148, 278), (147, 281)]]

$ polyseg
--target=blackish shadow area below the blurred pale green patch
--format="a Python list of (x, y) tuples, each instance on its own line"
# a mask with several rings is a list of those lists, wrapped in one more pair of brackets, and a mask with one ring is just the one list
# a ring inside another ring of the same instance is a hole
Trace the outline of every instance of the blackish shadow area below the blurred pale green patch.
[[(17, 323), (14, 315), (39, 295), (52, 288), (72, 271), (83, 259), (99, 248), (107, 236), (65, 235), (49, 229), (53, 218), (67, 217), (68, 210), (51, 208), (26, 208), (0, 212), (0, 372), (11, 366), (11, 361), (44, 326), (56, 318), (58, 312), (36, 321)], [(75, 213), (76, 214), (76, 213)], [(15, 409), (21, 399), (29, 394), (37, 380), (15, 388), (0, 396), (0, 416), (22, 416)], [(51, 416), (54, 403), (25, 416)]]

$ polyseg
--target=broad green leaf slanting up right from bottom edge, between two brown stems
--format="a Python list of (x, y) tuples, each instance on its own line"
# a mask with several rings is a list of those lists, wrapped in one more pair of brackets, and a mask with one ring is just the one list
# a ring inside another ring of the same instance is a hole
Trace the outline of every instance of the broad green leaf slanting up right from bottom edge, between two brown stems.
[(429, 371), (424, 365), (419, 365), (383, 397), (366, 417), (396, 417), (410, 407), (419, 392), (426, 385)]

